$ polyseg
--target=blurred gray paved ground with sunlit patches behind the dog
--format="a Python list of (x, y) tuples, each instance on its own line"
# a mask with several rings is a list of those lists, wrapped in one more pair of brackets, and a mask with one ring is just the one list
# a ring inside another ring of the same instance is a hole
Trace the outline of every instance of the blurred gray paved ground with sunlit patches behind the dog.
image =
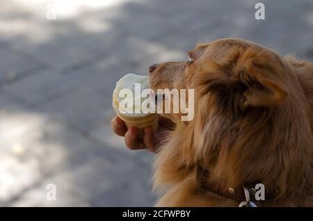
[(226, 37), (312, 60), (313, 1), (262, 1), (264, 21), (256, 2), (1, 0), (0, 205), (152, 206), (153, 154), (111, 132), (115, 81)]

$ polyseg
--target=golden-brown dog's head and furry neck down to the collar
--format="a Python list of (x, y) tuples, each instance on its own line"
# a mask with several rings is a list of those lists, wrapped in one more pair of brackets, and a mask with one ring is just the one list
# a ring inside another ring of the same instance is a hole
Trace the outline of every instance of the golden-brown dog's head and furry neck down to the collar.
[(186, 165), (207, 167), (230, 186), (296, 186), (312, 161), (312, 111), (294, 67), (240, 39), (200, 44), (188, 56), (150, 67), (154, 90), (195, 89), (191, 122), (164, 115), (177, 124)]

